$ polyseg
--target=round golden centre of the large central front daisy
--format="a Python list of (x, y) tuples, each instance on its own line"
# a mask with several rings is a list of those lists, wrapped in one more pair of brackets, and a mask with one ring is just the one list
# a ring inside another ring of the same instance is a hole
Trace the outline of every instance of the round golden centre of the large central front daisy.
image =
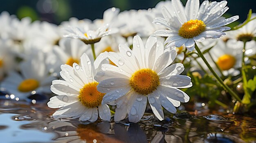
[(139, 94), (148, 95), (159, 86), (159, 77), (157, 73), (148, 68), (137, 70), (132, 74), (130, 85)]

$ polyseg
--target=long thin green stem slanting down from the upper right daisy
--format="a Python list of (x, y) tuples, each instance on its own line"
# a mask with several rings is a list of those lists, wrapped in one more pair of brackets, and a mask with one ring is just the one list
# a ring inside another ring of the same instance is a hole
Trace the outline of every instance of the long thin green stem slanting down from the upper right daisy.
[(204, 63), (208, 66), (209, 70), (211, 70), (211, 73), (217, 79), (217, 81), (220, 83), (222, 88), (225, 89), (227, 92), (229, 92), (229, 94), (232, 97), (236, 98), (236, 100), (241, 102), (242, 100), (238, 97), (238, 95), (236, 95), (236, 93), (233, 90), (231, 90), (226, 84), (224, 84), (222, 79), (216, 74), (216, 72), (213, 70), (213, 68), (211, 68), (210, 64), (207, 62), (207, 60), (205, 59), (204, 55), (202, 54), (202, 52), (200, 51), (200, 49), (198, 48), (198, 46), (196, 44), (195, 44), (195, 50), (198, 52), (200, 57), (203, 59)]

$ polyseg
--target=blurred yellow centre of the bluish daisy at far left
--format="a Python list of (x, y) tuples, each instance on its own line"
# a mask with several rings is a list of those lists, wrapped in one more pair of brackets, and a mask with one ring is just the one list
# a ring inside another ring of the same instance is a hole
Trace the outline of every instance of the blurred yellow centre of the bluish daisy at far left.
[(18, 86), (20, 92), (29, 92), (39, 87), (39, 82), (36, 79), (25, 79)]

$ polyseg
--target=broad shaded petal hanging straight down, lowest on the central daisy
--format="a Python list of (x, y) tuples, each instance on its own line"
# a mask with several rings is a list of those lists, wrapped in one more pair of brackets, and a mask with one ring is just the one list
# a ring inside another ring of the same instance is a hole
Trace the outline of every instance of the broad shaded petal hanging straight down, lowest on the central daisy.
[(146, 110), (147, 97), (145, 95), (133, 95), (135, 100), (132, 104), (129, 104), (130, 110), (128, 110), (128, 119), (130, 122), (137, 123)]

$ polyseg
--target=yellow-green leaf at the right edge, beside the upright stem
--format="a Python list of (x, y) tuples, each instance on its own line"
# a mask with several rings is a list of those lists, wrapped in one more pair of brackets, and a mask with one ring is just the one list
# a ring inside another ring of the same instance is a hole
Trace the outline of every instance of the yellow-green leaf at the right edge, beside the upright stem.
[(256, 75), (254, 75), (253, 79), (248, 80), (247, 85), (244, 87), (244, 89), (246, 90), (246, 92), (243, 97), (242, 103), (249, 104), (251, 102), (251, 95), (256, 89)]

